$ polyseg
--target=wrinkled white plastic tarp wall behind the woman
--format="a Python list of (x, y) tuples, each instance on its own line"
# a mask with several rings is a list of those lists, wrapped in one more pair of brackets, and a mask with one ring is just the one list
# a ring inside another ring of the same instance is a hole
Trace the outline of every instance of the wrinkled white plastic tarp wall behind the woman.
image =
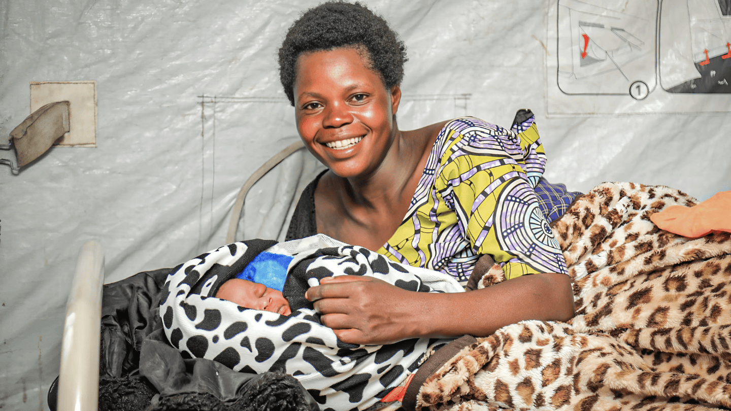
[[(531, 108), (546, 176), (569, 189), (731, 189), (731, 95), (704, 94), (731, 80), (727, 0), (366, 3), (408, 47), (402, 129), (466, 114), (510, 126)], [(1, 409), (47, 407), (85, 241), (104, 246), (107, 282), (223, 244), (240, 185), (296, 137), (276, 53), (315, 4), (0, 0), (0, 136), (29, 115), (31, 81), (96, 80), (98, 96), (96, 148), (0, 168)]]

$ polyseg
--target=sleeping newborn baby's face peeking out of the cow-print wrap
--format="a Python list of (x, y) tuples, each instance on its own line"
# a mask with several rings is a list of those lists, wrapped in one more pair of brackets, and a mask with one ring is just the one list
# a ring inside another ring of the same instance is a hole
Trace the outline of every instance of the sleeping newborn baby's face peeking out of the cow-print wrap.
[(216, 297), (250, 309), (260, 309), (282, 315), (292, 314), (289, 301), (284, 298), (281, 291), (245, 279), (230, 279), (224, 282), (216, 293)]

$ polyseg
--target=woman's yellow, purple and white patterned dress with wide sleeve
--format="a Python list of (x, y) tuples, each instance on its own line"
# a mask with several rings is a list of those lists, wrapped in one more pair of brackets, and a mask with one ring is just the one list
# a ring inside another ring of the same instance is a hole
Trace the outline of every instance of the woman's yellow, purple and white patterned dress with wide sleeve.
[(466, 281), (481, 254), (507, 279), (567, 273), (534, 187), (545, 170), (534, 117), (512, 131), (464, 117), (436, 139), (409, 211), (378, 250)]

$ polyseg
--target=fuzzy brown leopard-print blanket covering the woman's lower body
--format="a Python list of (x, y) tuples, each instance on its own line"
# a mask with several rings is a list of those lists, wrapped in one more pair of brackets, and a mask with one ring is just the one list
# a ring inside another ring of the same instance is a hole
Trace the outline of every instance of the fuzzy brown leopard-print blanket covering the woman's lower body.
[[(695, 203), (632, 183), (577, 200), (552, 224), (576, 316), (477, 339), (425, 380), (417, 410), (731, 408), (731, 235), (685, 238), (649, 218)], [(480, 287), (501, 278), (493, 266)]]

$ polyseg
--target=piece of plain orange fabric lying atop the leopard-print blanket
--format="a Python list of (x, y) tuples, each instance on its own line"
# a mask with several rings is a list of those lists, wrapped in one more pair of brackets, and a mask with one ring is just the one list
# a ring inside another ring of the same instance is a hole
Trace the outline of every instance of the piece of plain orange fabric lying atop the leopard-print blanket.
[(702, 237), (711, 231), (731, 233), (731, 191), (719, 192), (694, 207), (670, 206), (650, 219), (662, 230), (684, 237)]

